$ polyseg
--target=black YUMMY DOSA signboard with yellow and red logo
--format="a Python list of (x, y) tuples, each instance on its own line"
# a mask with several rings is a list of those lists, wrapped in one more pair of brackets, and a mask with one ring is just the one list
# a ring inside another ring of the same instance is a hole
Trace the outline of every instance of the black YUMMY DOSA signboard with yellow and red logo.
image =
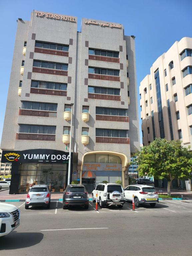
[[(72, 155), (72, 153), (71, 153)], [(28, 149), (2, 152), (2, 163), (68, 163), (69, 152), (52, 149)]]

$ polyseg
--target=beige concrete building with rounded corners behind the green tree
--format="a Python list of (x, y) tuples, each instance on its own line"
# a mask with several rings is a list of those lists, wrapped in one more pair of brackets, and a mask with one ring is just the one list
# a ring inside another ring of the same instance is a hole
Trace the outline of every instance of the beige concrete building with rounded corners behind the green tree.
[(142, 139), (182, 140), (192, 146), (192, 38), (176, 41), (140, 84)]

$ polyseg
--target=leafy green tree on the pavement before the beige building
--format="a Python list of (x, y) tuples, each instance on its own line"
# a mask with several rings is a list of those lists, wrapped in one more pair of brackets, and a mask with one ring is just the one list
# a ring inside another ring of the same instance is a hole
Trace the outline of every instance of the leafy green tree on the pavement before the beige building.
[(167, 180), (167, 194), (171, 195), (173, 179), (189, 178), (192, 172), (192, 152), (180, 140), (155, 139), (148, 146), (137, 151), (135, 162), (140, 176), (154, 176)]

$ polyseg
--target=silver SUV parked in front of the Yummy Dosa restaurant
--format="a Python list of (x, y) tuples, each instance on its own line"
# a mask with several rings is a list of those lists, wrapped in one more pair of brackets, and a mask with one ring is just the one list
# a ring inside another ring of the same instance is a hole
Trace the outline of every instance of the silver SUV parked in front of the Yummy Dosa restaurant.
[(45, 205), (50, 208), (51, 191), (47, 185), (34, 185), (28, 192), (25, 200), (25, 209), (30, 205)]

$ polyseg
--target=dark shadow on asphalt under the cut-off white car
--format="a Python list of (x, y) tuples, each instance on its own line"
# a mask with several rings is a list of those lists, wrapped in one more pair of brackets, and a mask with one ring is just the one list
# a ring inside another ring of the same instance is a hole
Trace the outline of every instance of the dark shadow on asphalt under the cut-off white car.
[(43, 239), (40, 232), (20, 233), (13, 231), (7, 236), (0, 237), (0, 250), (14, 250), (38, 244)]

